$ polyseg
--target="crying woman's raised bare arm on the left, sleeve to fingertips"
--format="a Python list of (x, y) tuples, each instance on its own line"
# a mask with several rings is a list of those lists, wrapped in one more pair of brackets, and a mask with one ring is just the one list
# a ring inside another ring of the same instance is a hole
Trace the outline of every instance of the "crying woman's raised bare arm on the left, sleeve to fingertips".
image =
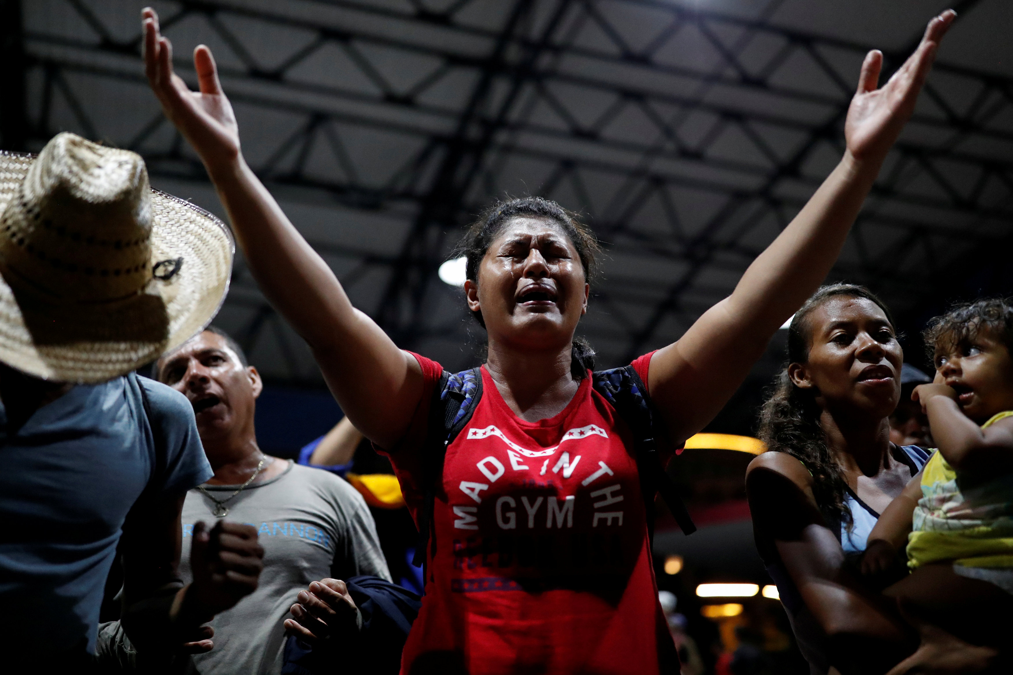
[(143, 12), (145, 70), (166, 116), (208, 169), (264, 296), (309, 343), (356, 427), (383, 447), (405, 432), (422, 392), (417, 361), (356, 310), (337, 277), (286, 218), (243, 159), (239, 129), (211, 50), (193, 65), (200, 91), (172, 72), (172, 46), (153, 9)]

